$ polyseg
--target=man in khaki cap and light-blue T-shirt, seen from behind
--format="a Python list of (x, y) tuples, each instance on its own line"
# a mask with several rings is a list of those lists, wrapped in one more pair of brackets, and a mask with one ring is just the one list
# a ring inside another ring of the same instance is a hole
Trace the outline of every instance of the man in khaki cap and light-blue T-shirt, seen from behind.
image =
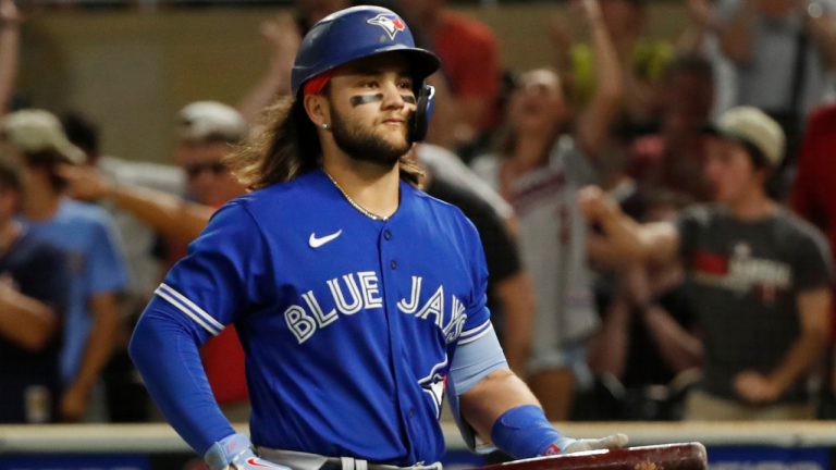
[(88, 415), (88, 397), (110, 358), (116, 296), (126, 283), (113, 221), (103, 209), (64, 196), (66, 181), (59, 169), (82, 163), (84, 153), (70, 144), (54, 115), (44, 110), (7, 114), (0, 121), (0, 144), (20, 157), (23, 168), (25, 193), (19, 221), (34, 237), (64, 250), (70, 260), (61, 418), (101, 419)]

